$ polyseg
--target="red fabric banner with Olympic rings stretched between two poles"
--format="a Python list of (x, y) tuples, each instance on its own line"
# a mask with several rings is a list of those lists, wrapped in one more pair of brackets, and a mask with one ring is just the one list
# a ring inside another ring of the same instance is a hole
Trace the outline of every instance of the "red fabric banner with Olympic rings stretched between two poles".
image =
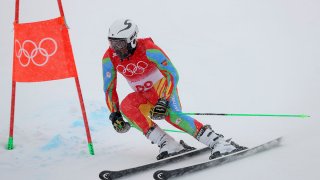
[(77, 76), (63, 17), (14, 24), (14, 81), (39, 82)]

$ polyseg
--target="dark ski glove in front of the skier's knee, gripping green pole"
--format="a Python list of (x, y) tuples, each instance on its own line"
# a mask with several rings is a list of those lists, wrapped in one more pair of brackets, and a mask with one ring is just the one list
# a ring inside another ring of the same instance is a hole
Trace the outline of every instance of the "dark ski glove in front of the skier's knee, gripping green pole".
[(150, 118), (153, 120), (161, 120), (167, 116), (169, 102), (165, 98), (160, 98), (157, 104), (150, 110)]

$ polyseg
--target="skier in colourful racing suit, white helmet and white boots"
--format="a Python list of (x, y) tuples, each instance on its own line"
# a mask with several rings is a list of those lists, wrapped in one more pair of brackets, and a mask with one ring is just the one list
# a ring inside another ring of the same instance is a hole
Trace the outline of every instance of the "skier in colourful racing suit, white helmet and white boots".
[[(232, 141), (227, 142), (210, 125), (184, 115), (178, 96), (178, 72), (168, 56), (151, 38), (137, 38), (138, 27), (129, 19), (115, 21), (109, 28), (110, 47), (103, 56), (103, 79), (109, 119), (118, 133), (125, 133), (130, 124), (160, 147), (157, 159), (192, 150), (183, 141), (177, 142), (153, 120), (165, 119), (174, 127), (190, 134), (209, 146), (210, 158), (242, 150)], [(122, 74), (134, 92), (121, 104), (117, 94), (117, 72)]]

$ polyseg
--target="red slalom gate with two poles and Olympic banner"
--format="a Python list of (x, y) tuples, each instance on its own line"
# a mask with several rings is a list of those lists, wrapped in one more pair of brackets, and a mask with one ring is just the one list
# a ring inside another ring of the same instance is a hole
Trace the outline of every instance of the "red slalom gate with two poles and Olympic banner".
[(16, 83), (74, 78), (87, 135), (89, 153), (94, 155), (87, 113), (74, 62), (68, 28), (65, 23), (62, 2), (61, 0), (57, 0), (57, 2), (60, 17), (45, 21), (20, 24), (20, 1), (16, 0), (10, 129), (7, 149), (12, 150), (14, 148), (13, 135)]

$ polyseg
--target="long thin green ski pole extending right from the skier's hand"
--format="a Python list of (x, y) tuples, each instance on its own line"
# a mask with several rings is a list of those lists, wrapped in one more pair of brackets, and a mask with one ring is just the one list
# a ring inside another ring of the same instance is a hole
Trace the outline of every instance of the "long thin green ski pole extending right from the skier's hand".
[(308, 118), (306, 114), (227, 114), (227, 113), (194, 113), (194, 112), (170, 112), (173, 114), (197, 115), (197, 116), (268, 116), (268, 117), (294, 117)]

